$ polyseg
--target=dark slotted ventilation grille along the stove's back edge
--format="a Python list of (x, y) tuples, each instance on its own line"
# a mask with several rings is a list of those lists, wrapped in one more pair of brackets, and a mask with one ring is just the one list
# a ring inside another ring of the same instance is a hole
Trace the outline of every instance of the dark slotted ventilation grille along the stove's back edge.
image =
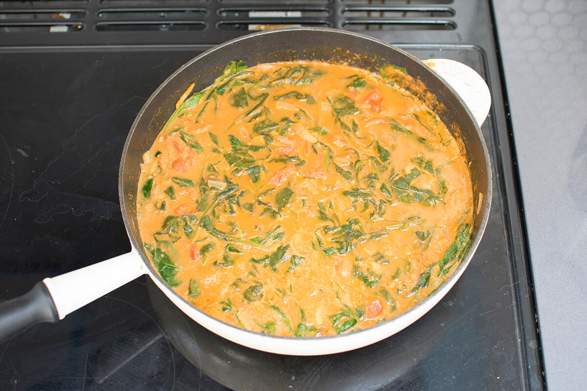
[[(245, 31), (292, 26), (366, 33), (454, 30), (452, 4), (453, 0), (0, 1), (0, 34), (12, 33), (10, 42), (2, 40), (0, 45), (19, 40), (37, 45), (209, 44)], [(53, 33), (60, 33), (60, 38)]]

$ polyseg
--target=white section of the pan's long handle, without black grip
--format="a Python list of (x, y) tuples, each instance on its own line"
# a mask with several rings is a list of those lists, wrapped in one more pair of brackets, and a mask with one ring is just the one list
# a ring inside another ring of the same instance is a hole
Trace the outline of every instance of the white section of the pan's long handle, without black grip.
[(139, 253), (130, 253), (86, 266), (43, 283), (55, 302), (59, 319), (147, 273)]

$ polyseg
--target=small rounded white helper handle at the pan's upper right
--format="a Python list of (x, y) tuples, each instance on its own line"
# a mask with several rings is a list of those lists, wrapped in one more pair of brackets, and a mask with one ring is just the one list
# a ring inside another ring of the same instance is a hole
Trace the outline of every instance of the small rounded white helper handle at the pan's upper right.
[(481, 126), (491, 107), (491, 94), (483, 77), (471, 67), (454, 60), (429, 59), (424, 60), (424, 64), (457, 91)]

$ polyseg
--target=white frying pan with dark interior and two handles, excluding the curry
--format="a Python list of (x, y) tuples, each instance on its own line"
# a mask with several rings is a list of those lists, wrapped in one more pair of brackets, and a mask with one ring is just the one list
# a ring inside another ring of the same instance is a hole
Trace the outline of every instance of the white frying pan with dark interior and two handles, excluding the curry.
[[(159, 276), (141, 245), (137, 226), (136, 195), (142, 155), (151, 147), (187, 86), (195, 83), (194, 91), (204, 89), (220, 76), (226, 64), (236, 59), (243, 60), (249, 66), (266, 62), (320, 60), (346, 63), (372, 72), (376, 72), (383, 64), (391, 63), (405, 68), (413, 77), (414, 83), (406, 88), (433, 108), (459, 140), (470, 162), (473, 183), (475, 215), (470, 249), (454, 274), (433, 294), (409, 311), (367, 329), (336, 336), (296, 338), (252, 332), (212, 318), (181, 298)], [(461, 67), (444, 60), (431, 60), (429, 63), (438, 69), (446, 67), (443, 74), (446, 74), (447, 79), (456, 79), (456, 83), (460, 82), (461, 87), (464, 87), (460, 92), (462, 96), (471, 93), (468, 86), (473, 82), (462, 80)], [(471, 107), (483, 103), (480, 110), (475, 109), (478, 112), (477, 120), (482, 123), (490, 100), (487, 86), (480, 76), (476, 77), (481, 80), (484, 94), (467, 100)], [(365, 35), (325, 28), (292, 28), (269, 30), (231, 40), (195, 57), (168, 77), (144, 104), (130, 129), (120, 162), (119, 197), (133, 250), (61, 276), (45, 278), (29, 293), (0, 303), (0, 341), (37, 322), (63, 319), (134, 278), (149, 274), (157, 287), (190, 318), (215, 334), (250, 348), (288, 355), (323, 355), (373, 344), (424, 315), (463, 274), (487, 223), (491, 204), (491, 167), (487, 147), (474, 115), (459, 94), (429, 66), (396, 47)]]

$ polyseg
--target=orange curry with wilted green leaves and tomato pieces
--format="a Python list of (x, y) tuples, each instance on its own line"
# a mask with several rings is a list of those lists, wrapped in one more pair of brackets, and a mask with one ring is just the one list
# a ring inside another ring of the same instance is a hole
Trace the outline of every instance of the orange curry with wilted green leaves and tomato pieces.
[(186, 91), (141, 164), (161, 276), (212, 317), (285, 336), (356, 331), (426, 298), (468, 249), (473, 201), (457, 142), (393, 83), (404, 72), (232, 62)]

